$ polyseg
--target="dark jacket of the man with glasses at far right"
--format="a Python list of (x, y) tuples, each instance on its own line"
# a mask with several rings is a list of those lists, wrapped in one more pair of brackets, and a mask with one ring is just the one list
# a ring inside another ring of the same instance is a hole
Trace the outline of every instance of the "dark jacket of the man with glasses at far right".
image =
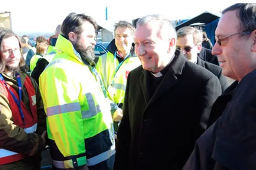
[(209, 120), (217, 121), (197, 140), (183, 170), (256, 169), (255, 86), (256, 70), (219, 96)]

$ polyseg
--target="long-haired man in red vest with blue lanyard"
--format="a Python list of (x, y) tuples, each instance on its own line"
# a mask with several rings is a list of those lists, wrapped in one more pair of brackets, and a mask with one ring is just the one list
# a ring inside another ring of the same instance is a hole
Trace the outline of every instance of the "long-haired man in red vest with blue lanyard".
[(0, 169), (40, 170), (46, 114), (35, 80), (27, 74), (21, 42), (0, 28)]

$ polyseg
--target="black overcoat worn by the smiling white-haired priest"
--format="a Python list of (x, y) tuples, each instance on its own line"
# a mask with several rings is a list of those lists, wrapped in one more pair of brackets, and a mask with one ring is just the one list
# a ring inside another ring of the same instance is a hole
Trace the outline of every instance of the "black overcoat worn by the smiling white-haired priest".
[(179, 53), (151, 99), (151, 73), (128, 75), (114, 170), (181, 170), (205, 131), (221, 85)]

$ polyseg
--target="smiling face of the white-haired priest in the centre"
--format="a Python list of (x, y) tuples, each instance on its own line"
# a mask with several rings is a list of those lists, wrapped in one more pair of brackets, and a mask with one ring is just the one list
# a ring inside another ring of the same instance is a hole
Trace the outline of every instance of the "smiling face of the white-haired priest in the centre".
[(175, 45), (175, 39), (167, 39), (166, 36), (169, 35), (164, 35), (159, 26), (157, 21), (138, 26), (134, 36), (135, 52), (142, 67), (155, 73), (161, 71), (168, 64), (170, 58), (167, 56), (171, 47)]

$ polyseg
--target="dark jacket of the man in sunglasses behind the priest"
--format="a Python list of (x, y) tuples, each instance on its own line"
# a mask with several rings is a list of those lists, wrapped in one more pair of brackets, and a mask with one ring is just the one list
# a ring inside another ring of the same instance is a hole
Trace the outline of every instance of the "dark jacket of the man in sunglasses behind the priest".
[(228, 86), (227, 79), (222, 75), (222, 68), (220, 66), (216, 66), (212, 63), (208, 63), (206, 61), (203, 61), (201, 58), (197, 57), (197, 65), (202, 66), (203, 68), (206, 68), (210, 72), (212, 72), (215, 76), (219, 78), (219, 82), (221, 83), (221, 90), (222, 92), (226, 90)]

